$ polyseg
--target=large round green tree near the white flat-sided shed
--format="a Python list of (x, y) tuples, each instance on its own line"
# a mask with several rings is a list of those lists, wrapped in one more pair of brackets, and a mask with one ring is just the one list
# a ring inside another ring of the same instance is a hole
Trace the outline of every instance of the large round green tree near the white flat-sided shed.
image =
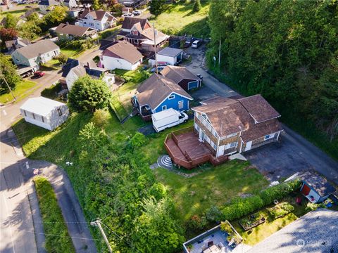
[(68, 94), (68, 105), (77, 112), (95, 112), (106, 108), (110, 99), (111, 91), (103, 81), (85, 76), (74, 82)]

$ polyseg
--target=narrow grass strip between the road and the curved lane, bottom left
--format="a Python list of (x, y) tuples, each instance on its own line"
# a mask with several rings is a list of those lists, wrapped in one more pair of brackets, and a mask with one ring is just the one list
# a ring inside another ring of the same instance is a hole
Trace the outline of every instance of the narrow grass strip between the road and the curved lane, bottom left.
[(75, 252), (51, 183), (42, 176), (35, 176), (34, 183), (44, 224), (47, 252)]

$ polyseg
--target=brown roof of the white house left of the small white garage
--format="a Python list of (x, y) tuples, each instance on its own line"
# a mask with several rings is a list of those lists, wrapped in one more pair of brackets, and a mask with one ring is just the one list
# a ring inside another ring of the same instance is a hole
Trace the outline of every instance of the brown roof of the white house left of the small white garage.
[(138, 60), (142, 60), (143, 58), (137, 48), (125, 40), (115, 41), (113, 46), (109, 46), (104, 50), (102, 56), (124, 59), (132, 64), (137, 63)]

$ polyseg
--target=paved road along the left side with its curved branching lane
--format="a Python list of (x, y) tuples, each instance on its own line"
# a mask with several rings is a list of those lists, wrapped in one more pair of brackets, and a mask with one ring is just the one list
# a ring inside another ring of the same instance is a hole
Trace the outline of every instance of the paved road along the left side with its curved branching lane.
[[(93, 49), (79, 57), (79, 60), (94, 66), (92, 58), (100, 50)], [(70, 182), (61, 169), (52, 164), (28, 160), (24, 157), (20, 145), (13, 136), (11, 124), (20, 119), (20, 106), (27, 98), (40, 96), (46, 87), (54, 84), (61, 77), (61, 72), (46, 72), (44, 77), (34, 79), (39, 85), (30, 96), (17, 103), (0, 107), (0, 252), (44, 252), (44, 235), (39, 214), (36, 194), (32, 188), (30, 176), (32, 169), (46, 171), (49, 180), (54, 182), (54, 189), (59, 205), (68, 223), (68, 230), (73, 236), (77, 252), (96, 252), (94, 242), (80, 238), (91, 238), (87, 223)], [(14, 139), (13, 139), (14, 138)], [(14, 147), (13, 147), (14, 144)], [(26, 167), (28, 164), (28, 169)], [(54, 171), (53, 173), (51, 171)], [(33, 221), (36, 221), (33, 226)], [(79, 221), (80, 223), (75, 223)]]

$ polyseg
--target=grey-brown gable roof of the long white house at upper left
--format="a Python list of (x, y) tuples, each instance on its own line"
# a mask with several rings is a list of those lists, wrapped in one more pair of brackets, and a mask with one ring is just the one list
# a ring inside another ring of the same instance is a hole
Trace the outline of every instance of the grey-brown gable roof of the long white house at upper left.
[(22, 56), (25, 56), (25, 58), (30, 59), (39, 56), (39, 54), (41, 53), (48, 53), (56, 49), (59, 49), (58, 45), (56, 45), (53, 41), (50, 41), (49, 39), (44, 39), (41, 41), (37, 41), (35, 44), (18, 48), (16, 49), (16, 51)]

